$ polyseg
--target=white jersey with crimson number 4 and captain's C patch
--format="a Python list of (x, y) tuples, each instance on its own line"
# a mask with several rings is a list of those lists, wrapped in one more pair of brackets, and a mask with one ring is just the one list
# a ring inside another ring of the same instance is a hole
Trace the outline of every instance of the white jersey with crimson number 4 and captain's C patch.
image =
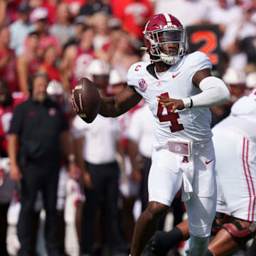
[(192, 78), (198, 70), (212, 68), (207, 55), (198, 51), (184, 55), (159, 79), (149, 73), (147, 66), (150, 64), (150, 62), (134, 63), (129, 68), (127, 82), (144, 97), (154, 114), (156, 144), (164, 144), (169, 138), (198, 142), (212, 137), (211, 113), (208, 107), (192, 107), (171, 113), (169, 108), (161, 107), (156, 98), (158, 95), (163, 95), (173, 99), (183, 99), (200, 93), (201, 90), (193, 85)]

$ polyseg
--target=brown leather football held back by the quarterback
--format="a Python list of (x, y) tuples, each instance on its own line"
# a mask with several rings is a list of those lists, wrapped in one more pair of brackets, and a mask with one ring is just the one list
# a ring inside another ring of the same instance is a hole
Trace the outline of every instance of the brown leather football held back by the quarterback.
[(96, 85), (87, 78), (81, 78), (73, 91), (75, 112), (87, 123), (91, 123), (100, 111), (100, 93)]

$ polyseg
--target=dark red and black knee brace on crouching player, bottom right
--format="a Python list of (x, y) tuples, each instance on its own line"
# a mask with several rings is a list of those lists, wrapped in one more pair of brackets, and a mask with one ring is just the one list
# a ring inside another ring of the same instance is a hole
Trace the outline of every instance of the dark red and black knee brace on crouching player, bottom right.
[(223, 225), (223, 228), (230, 233), (231, 237), (238, 245), (244, 245), (251, 238), (255, 238), (255, 222), (251, 223), (249, 228), (242, 228), (242, 225), (238, 221), (234, 221), (232, 224), (235, 225), (238, 230), (235, 230), (230, 223)]

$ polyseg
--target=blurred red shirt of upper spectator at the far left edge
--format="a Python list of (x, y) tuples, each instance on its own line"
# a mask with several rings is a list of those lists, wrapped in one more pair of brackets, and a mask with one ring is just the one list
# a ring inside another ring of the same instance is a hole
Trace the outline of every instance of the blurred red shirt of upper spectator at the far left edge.
[(6, 80), (8, 83), (9, 90), (11, 92), (18, 92), (18, 79), (16, 73), (16, 58), (13, 50), (3, 50), (0, 49), (0, 59), (4, 58), (6, 55), (9, 55), (9, 61), (4, 68), (0, 69), (0, 79)]

